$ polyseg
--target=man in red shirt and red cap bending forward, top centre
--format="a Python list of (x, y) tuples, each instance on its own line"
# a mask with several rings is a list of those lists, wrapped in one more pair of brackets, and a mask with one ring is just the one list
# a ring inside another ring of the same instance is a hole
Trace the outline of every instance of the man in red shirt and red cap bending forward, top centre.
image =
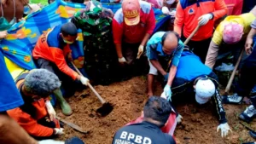
[(124, 0), (113, 17), (113, 42), (120, 64), (134, 64), (143, 54), (148, 38), (154, 32), (154, 11), (150, 3)]

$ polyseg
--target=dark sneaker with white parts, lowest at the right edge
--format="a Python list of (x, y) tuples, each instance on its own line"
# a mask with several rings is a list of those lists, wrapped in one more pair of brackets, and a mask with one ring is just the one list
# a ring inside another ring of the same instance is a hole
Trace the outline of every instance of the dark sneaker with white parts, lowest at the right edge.
[(250, 123), (253, 118), (256, 117), (256, 109), (253, 107), (253, 105), (247, 107), (247, 109), (244, 112), (241, 112), (239, 118), (247, 123)]

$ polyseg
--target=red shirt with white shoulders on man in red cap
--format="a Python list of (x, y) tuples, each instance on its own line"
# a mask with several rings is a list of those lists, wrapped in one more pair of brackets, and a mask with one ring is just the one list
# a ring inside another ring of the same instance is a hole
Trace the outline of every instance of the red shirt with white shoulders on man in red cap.
[(113, 16), (113, 42), (121, 44), (122, 40), (125, 43), (141, 43), (146, 33), (154, 32), (155, 19), (154, 10), (151, 4), (140, 1), (140, 23), (137, 26), (127, 26), (124, 20), (122, 9), (119, 9)]

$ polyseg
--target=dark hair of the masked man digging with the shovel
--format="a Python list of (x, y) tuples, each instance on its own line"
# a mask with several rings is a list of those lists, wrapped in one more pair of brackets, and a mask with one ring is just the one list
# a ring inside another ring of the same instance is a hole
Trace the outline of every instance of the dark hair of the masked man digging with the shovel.
[(77, 36), (78, 29), (72, 22), (67, 22), (61, 26), (61, 33), (63, 36)]

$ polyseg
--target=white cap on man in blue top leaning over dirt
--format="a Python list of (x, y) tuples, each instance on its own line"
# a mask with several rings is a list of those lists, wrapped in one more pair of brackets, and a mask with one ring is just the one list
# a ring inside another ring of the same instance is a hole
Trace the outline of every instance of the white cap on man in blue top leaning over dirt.
[(208, 78), (201, 78), (195, 84), (195, 101), (205, 104), (215, 94), (215, 85)]

